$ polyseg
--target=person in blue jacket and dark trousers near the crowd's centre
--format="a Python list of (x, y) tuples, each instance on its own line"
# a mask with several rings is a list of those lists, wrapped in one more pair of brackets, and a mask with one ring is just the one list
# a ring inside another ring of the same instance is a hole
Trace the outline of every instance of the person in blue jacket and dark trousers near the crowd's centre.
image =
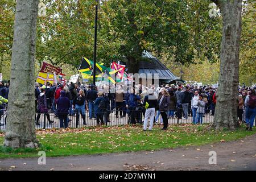
[(138, 101), (141, 100), (141, 97), (134, 93), (134, 89), (132, 88), (130, 94), (126, 97), (126, 108), (130, 110), (131, 115), (131, 124), (136, 124), (135, 121), (135, 114), (136, 114), (136, 107), (138, 105)]

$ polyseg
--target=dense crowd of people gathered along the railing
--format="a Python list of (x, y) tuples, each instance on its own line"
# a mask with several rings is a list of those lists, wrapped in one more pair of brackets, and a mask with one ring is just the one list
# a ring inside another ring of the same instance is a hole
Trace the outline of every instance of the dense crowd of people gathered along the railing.
[[(9, 84), (0, 82), (0, 96), (8, 99)], [(238, 88), (237, 117), (240, 123), (246, 123), (246, 130), (252, 130), (256, 114), (255, 87)], [(188, 119), (193, 124), (202, 124), (205, 114), (214, 115), (217, 88), (211, 86), (187, 85), (134, 85), (132, 88), (123, 84), (117, 85), (84, 85), (84, 84), (51, 84), (35, 82), (36, 125), (40, 125), (40, 115), (46, 114), (52, 124), (49, 112), (55, 113), (60, 120), (60, 127), (68, 127), (76, 115), (76, 124), (81, 115), (86, 125), (85, 114), (89, 119), (96, 119), (98, 125), (108, 125), (109, 114), (116, 118), (128, 115), (128, 123), (143, 124), (143, 130), (152, 130), (154, 123), (160, 122), (162, 130), (168, 127), (168, 118)], [(0, 113), (1, 114), (1, 113)], [(160, 121), (159, 121), (159, 117)]]

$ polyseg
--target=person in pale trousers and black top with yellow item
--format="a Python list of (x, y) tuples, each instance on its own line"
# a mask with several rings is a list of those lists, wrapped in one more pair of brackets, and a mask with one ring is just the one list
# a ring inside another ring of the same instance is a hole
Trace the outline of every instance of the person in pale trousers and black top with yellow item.
[(155, 118), (155, 109), (158, 105), (158, 101), (154, 96), (154, 90), (148, 89), (148, 95), (145, 96), (143, 106), (147, 105), (147, 109), (145, 111), (144, 123), (143, 123), (143, 130), (147, 130), (148, 119), (150, 119), (150, 126), (148, 130), (152, 130), (154, 125), (154, 118)]

